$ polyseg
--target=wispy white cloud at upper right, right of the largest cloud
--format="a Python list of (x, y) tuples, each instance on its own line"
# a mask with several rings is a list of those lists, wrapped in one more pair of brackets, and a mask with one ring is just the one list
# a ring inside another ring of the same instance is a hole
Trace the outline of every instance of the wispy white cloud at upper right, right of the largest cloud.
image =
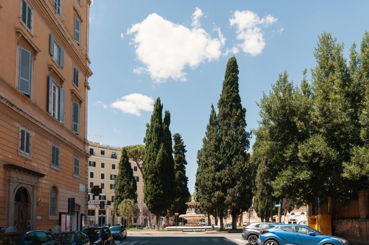
[(236, 39), (242, 41), (242, 43), (237, 44), (237, 47), (252, 56), (260, 54), (265, 47), (262, 28), (272, 25), (277, 20), (278, 18), (271, 14), (265, 18), (259, 18), (258, 14), (250, 10), (236, 10), (229, 21), (231, 26), (237, 28)]

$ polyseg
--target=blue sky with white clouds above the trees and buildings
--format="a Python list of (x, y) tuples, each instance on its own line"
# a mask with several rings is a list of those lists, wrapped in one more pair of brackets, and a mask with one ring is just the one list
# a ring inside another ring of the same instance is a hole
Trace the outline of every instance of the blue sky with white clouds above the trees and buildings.
[(251, 130), (258, 127), (255, 102), (278, 74), (287, 70), (300, 84), (304, 68), (315, 65), (318, 35), (332, 32), (345, 43), (347, 57), (352, 42), (359, 44), (368, 29), (368, 1), (262, 3), (94, 0), (88, 139), (115, 146), (142, 144), (152, 102), (160, 96), (171, 113), (172, 135), (179, 132), (187, 146), (192, 193), (196, 153), (229, 57), (237, 58), (239, 93)]

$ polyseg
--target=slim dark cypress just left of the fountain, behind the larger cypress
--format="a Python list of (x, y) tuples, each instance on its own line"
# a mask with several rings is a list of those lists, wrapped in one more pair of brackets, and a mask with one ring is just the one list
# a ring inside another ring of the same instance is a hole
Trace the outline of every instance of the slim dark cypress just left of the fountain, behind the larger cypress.
[(174, 171), (175, 171), (175, 194), (172, 203), (171, 212), (185, 214), (187, 205), (185, 204), (190, 198), (190, 192), (187, 187), (188, 178), (186, 176), (186, 155), (187, 150), (182, 136), (179, 133), (173, 135), (174, 140)]

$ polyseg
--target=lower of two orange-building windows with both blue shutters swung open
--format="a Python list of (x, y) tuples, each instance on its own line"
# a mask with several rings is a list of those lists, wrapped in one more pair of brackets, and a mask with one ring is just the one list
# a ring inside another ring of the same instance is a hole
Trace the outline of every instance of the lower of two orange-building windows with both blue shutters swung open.
[(56, 120), (64, 123), (64, 99), (65, 92), (56, 84), (55, 80), (49, 75), (49, 103), (48, 113)]

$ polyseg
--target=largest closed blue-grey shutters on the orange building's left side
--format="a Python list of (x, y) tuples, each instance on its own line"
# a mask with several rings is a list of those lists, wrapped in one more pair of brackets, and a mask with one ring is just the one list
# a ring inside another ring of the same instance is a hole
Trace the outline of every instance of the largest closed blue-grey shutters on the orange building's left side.
[(23, 47), (19, 51), (19, 90), (30, 95), (31, 90), (31, 52)]

